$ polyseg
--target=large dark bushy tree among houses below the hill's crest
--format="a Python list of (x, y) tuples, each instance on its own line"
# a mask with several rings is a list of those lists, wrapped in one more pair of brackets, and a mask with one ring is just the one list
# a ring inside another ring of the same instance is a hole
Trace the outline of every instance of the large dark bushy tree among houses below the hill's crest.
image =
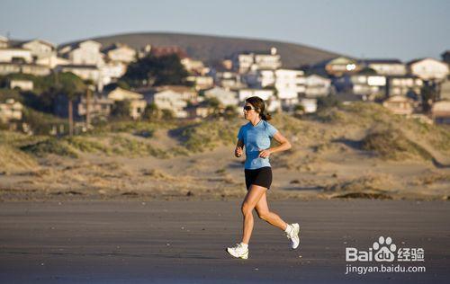
[(121, 80), (134, 87), (163, 84), (188, 85), (187, 75), (187, 71), (176, 54), (162, 57), (150, 55), (131, 63)]

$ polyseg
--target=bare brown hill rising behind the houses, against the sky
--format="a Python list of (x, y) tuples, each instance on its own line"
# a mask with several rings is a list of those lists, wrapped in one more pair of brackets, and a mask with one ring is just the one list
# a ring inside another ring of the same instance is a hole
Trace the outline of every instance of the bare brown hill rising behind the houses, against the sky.
[[(121, 42), (135, 49), (142, 48), (147, 44), (153, 46), (176, 45), (183, 48), (190, 57), (202, 59), (210, 63), (220, 58), (226, 58), (237, 51), (268, 51), (271, 47), (278, 49), (284, 67), (300, 67), (304, 64), (311, 64), (338, 56), (337, 53), (326, 50), (275, 40), (250, 40), (169, 32), (126, 33), (85, 40), (96, 40), (102, 43), (103, 46), (108, 46), (114, 42)], [(67, 42), (61, 46), (76, 42)]]

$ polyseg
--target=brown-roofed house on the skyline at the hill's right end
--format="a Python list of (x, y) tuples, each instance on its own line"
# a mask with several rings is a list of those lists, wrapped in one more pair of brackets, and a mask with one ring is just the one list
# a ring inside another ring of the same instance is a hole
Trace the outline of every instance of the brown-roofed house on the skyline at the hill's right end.
[(311, 67), (311, 73), (319, 75), (331, 75), (340, 77), (342, 75), (356, 73), (363, 67), (358, 60), (354, 58), (330, 58), (319, 63), (314, 64)]

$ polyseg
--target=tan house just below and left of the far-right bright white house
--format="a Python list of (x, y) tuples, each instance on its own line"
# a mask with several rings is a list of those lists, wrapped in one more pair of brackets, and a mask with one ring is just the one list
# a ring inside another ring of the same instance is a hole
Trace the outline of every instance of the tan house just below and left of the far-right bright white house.
[(388, 76), (386, 78), (386, 95), (405, 96), (408, 93), (419, 95), (422, 85), (422, 79), (414, 75)]

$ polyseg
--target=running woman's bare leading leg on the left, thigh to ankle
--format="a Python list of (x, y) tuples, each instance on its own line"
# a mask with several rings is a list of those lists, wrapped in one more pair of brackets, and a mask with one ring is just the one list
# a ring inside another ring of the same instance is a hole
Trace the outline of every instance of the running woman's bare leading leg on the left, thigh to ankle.
[(242, 216), (244, 217), (243, 233), (242, 233), (242, 243), (248, 244), (250, 241), (250, 236), (253, 230), (253, 209), (257, 206), (257, 202), (266, 193), (267, 189), (265, 187), (252, 184), (248, 189), (246, 198), (242, 202)]

